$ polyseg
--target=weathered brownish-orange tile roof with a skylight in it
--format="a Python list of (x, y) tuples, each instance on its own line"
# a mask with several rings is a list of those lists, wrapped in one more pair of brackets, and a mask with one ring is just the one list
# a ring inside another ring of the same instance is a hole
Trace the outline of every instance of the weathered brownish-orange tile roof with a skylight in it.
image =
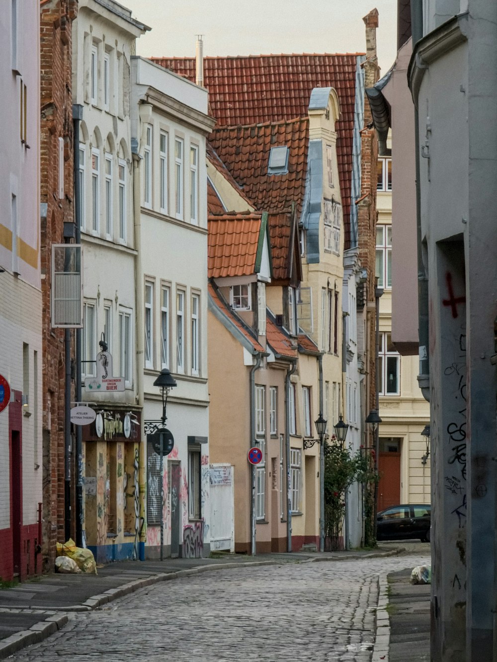
[[(222, 127), (211, 144), (247, 197), (260, 211), (302, 209), (307, 171), (309, 120), (298, 118), (266, 124)], [(268, 175), (272, 147), (288, 146), (288, 173)]]

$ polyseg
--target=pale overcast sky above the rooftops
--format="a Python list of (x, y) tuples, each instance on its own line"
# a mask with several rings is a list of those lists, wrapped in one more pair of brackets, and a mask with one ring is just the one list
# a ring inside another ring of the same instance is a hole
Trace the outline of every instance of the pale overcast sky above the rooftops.
[(365, 52), (362, 17), (378, 9), (376, 47), (382, 75), (396, 56), (397, 0), (119, 0), (150, 26), (137, 54), (204, 55)]

